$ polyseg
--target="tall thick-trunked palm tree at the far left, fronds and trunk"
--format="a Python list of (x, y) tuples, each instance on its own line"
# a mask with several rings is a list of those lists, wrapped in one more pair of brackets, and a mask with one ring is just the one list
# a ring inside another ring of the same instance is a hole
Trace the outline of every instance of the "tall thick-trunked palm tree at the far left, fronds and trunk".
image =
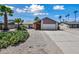
[(13, 16), (13, 10), (5, 5), (0, 5), (0, 16), (4, 17), (4, 30), (8, 30), (8, 15)]

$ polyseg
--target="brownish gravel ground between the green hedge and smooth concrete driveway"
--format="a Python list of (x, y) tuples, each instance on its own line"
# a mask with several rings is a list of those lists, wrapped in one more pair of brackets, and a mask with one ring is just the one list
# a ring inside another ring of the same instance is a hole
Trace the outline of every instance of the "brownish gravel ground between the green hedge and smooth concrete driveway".
[(5, 54), (47, 54), (63, 53), (61, 49), (42, 31), (28, 30), (29, 39), (13, 47), (2, 49), (0, 53)]

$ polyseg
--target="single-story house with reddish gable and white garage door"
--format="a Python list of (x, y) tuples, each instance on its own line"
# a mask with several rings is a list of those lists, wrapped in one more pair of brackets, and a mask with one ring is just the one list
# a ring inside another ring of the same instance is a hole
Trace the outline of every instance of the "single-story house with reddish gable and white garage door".
[(48, 17), (45, 17), (42, 20), (34, 22), (33, 28), (36, 30), (57, 30), (58, 22)]

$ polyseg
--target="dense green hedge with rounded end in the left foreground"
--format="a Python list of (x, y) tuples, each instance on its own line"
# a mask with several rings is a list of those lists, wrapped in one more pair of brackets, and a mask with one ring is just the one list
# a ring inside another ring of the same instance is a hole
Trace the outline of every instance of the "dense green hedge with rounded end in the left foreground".
[(24, 42), (28, 37), (29, 33), (27, 31), (0, 32), (0, 48), (17, 45)]

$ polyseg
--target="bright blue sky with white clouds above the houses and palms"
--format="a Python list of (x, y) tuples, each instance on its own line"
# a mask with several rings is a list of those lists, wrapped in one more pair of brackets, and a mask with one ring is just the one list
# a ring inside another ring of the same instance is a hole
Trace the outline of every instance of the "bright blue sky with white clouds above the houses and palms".
[[(6, 4), (7, 7), (13, 9), (13, 16), (9, 19), (22, 18), (25, 22), (33, 21), (36, 16), (40, 19), (44, 17), (52, 18), (59, 21), (58, 16), (70, 14), (70, 20), (74, 21), (74, 10), (79, 10), (79, 4)], [(0, 21), (3, 17), (0, 16)], [(77, 20), (79, 19), (79, 12), (77, 13)], [(67, 20), (67, 19), (66, 19)]]

